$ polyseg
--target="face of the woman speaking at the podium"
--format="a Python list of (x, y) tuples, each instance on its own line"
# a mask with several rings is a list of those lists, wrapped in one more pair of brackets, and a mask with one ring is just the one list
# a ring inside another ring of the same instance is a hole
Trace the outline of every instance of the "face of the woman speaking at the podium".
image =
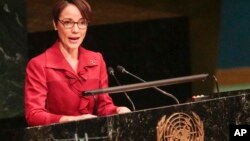
[(65, 28), (63, 23), (68, 21), (78, 22), (84, 20), (80, 11), (75, 5), (69, 4), (63, 9), (59, 16), (59, 20), (54, 23), (55, 29), (58, 30), (58, 36), (62, 47), (66, 50), (78, 49), (87, 32), (87, 24), (84, 27), (79, 28), (78, 24), (74, 24), (73, 27)]

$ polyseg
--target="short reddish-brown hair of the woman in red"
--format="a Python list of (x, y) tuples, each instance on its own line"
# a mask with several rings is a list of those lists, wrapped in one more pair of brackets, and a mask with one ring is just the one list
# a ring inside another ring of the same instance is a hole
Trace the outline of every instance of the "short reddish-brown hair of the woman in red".
[(89, 5), (89, 3), (86, 0), (59, 0), (53, 10), (52, 10), (52, 18), (55, 22), (57, 22), (59, 20), (59, 16), (61, 14), (61, 12), (63, 11), (63, 9), (69, 5), (69, 4), (73, 4), (75, 5), (81, 15), (88, 21), (91, 21), (92, 18), (92, 10), (91, 7)]

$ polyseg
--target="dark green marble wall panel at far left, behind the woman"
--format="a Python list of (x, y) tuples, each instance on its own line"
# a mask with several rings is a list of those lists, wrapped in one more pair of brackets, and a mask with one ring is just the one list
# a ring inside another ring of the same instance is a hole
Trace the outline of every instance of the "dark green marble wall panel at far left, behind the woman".
[(24, 0), (0, 0), (0, 119), (23, 115), (27, 52)]

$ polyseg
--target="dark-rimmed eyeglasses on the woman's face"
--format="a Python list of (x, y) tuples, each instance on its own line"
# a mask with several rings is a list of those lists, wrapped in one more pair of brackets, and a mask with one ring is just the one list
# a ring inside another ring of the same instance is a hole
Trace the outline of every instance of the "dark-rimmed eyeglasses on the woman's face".
[(63, 20), (58, 20), (64, 28), (72, 28), (75, 24), (77, 24), (78, 28), (84, 29), (88, 25), (88, 21), (86, 19), (80, 19), (78, 22), (74, 22), (71, 19), (63, 19)]

